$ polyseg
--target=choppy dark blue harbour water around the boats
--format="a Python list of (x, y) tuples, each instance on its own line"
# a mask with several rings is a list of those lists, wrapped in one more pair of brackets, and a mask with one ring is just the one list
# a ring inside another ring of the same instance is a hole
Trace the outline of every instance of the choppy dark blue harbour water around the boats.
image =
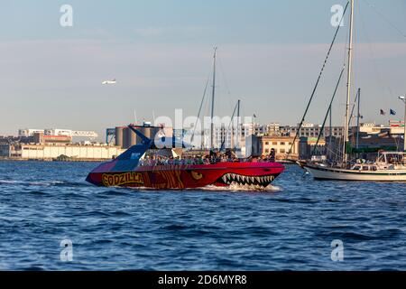
[(88, 184), (95, 166), (0, 162), (0, 269), (406, 269), (405, 183), (317, 182), (289, 165), (266, 192), (137, 191)]

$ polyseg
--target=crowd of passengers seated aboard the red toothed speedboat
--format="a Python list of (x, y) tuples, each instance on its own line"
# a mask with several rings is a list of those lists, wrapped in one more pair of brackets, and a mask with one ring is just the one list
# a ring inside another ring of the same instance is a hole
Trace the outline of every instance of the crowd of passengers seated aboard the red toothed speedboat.
[(188, 155), (183, 157), (146, 155), (140, 160), (140, 165), (188, 165), (188, 164), (210, 164), (210, 163), (266, 163), (275, 162), (274, 154), (262, 155), (259, 157), (238, 158), (235, 154), (226, 152), (225, 154), (213, 153), (208, 155)]

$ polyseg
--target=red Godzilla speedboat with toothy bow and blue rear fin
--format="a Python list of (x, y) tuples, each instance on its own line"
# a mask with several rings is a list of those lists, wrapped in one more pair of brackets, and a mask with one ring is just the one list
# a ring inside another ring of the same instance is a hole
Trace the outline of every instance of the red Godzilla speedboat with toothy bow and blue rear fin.
[(143, 155), (158, 148), (152, 139), (147, 138), (133, 126), (129, 127), (142, 138), (142, 144), (130, 147), (115, 160), (100, 164), (88, 174), (88, 182), (106, 187), (153, 189), (191, 189), (208, 185), (225, 187), (233, 184), (265, 188), (284, 170), (280, 163), (244, 161), (145, 165), (142, 161)]

